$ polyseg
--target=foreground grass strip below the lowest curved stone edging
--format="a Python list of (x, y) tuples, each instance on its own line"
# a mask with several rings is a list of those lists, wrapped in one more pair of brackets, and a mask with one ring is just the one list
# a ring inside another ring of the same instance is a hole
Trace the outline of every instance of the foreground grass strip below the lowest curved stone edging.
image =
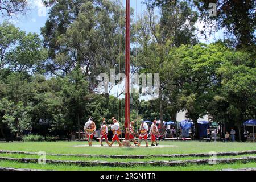
[(185, 167), (152, 167), (152, 166), (135, 166), (130, 168), (125, 167), (79, 167), (72, 165), (39, 165), (33, 163), (17, 163), (9, 161), (0, 161), (0, 167), (12, 167), (12, 168), (30, 168), (30, 169), (43, 169), (43, 170), (56, 170), (56, 171), (212, 171), (221, 169), (238, 169), (238, 168), (255, 168), (256, 163), (236, 163), (236, 164), (218, 164), (218, 165), (189, 165)]

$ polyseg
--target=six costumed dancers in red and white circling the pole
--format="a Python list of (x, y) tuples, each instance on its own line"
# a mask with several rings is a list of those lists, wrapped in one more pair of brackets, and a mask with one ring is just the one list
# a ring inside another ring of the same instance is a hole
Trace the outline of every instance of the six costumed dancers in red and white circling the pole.
[[(100, 129), (100, 144), (101, 146), (103, 146), (102, 142), (103, 139), (105, 138), (106, 143), (108, 144), (108, 146), (112, 146), (114, 142), (117, 142), (119, 144), (120, 147), (123, 146), (122, 142), (120, 141), (120, 134), (121, 134), (121, 130), (120, 130), (120, 125), (117, 121), (117, 119), (115, 119), (114, 117), (112, 117), (112, 121), (113, 124), (112, 125), (107, 125), (105, 118), (103, 118), (102, 120), (102, 125), (101, 125), (101, 129)], [(129, 140), (130, 142), (133, 142), (135, 144), (135, 146), (141, 146), (141, 141), (142, 139), (144, 139), (144, 141), (146, 142), (146, 147), (148, 147), (148, 125), (146, 122), (141, 121), (141, 125), (139, 126), (139, 133), (138, 133), (138, 143), (135, 141), (135, 135), (136, 133), (134, 132), (134, 125), (135, 122), (132, 121), (130, 122), (130, 126), (129, 126)], [(113, 131), (113, 138), (112, 138), (112, 142), (110, 143), (108, 140), (108, 127), (110, 127), (110, 129)], [(84, 130), (86, 133), (86, 136), (88, 138), (88, 144), (89, 146), (92, 146), (92, 139), (93, 139), (93, 134), (96, 131), (96, 125), (93, 121), (93, 118), (90, 118), (88, 122), (85, 123), (84, 126)], [(159, 131), (158, 131), (158, 127), (156, 126), (156, 120), (152, 123), (151, 127), (150, 127), (150, 137), (151, 137), (151, 146), (157, 146), (158, 143), (156, 142), (156, 136), (159, 135)]]

